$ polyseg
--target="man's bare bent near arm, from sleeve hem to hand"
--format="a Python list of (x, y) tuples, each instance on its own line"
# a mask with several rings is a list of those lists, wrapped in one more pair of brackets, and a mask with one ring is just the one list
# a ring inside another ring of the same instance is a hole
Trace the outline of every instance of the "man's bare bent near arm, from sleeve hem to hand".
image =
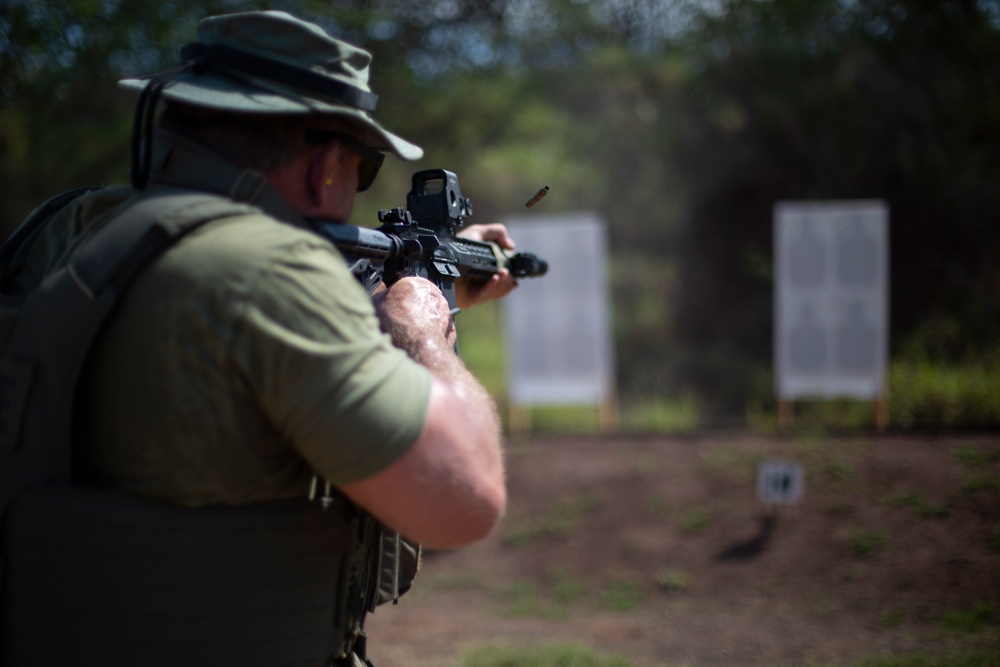
[(493, 399), (455, 353), (448, 304), (430, 282), (405, 278), (376, 295), (375, 303), (394, 343), (433, 374), (427, 419), (402, 458), (341, 490), (428, 547), (482, 539), (506, 506)]

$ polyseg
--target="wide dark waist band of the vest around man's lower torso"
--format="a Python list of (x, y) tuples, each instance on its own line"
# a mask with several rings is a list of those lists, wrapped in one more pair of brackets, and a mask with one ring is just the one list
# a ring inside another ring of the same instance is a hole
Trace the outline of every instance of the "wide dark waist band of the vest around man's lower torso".
[(375, 535), (341, 501), (188, 510), (35, 486), (3, 534), (0, 664), (326, 665), (357, 649), (345, 592), (373, 586)]

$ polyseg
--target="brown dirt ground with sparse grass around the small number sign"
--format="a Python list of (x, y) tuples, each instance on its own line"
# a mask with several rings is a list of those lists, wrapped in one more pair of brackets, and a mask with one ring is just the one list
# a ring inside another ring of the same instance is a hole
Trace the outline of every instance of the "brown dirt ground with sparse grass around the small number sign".
[[(769, 459), (803, 466), (798, 503), (758, 500)], [(508, 467), (493, 534), (426, 554), (370, 617), (376, 667), (535, 643), (643, 667), (1000, 656), (1000, 434), (535, 438)]]

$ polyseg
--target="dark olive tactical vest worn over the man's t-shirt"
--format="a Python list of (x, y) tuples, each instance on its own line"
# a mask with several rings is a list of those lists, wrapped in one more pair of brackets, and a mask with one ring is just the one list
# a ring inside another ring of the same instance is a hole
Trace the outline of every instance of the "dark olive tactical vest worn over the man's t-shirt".
[[(83, 192), (0, 248), (0, 292)], [(72, 483), (74, 394), (121, 294), (187, 232), (249, 212), (193, 190), (146, 195), (33, 293), (0, 294), (0, 665), (351, 665), (365, 615), (409, 588), (419, 547), (337, 495), (190, 510)]]

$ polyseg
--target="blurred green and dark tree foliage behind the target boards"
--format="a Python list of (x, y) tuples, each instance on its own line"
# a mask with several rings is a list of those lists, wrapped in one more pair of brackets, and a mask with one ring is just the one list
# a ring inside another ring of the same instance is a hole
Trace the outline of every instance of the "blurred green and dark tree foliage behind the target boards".
[[(608, 219), (623, 409), (769, 414), (774, 203), (880, 198), (893, 425), (1000, 425), (1000, 0), (0, 0), (0, 233), (127, 180), (114, 82), (246, 9), (372, 51), (378, 115), (415, 168), (459, 174), (473, 221), (541, 185), (545, 212)], [(413, 168), (390, 161), (353, 222)]]

